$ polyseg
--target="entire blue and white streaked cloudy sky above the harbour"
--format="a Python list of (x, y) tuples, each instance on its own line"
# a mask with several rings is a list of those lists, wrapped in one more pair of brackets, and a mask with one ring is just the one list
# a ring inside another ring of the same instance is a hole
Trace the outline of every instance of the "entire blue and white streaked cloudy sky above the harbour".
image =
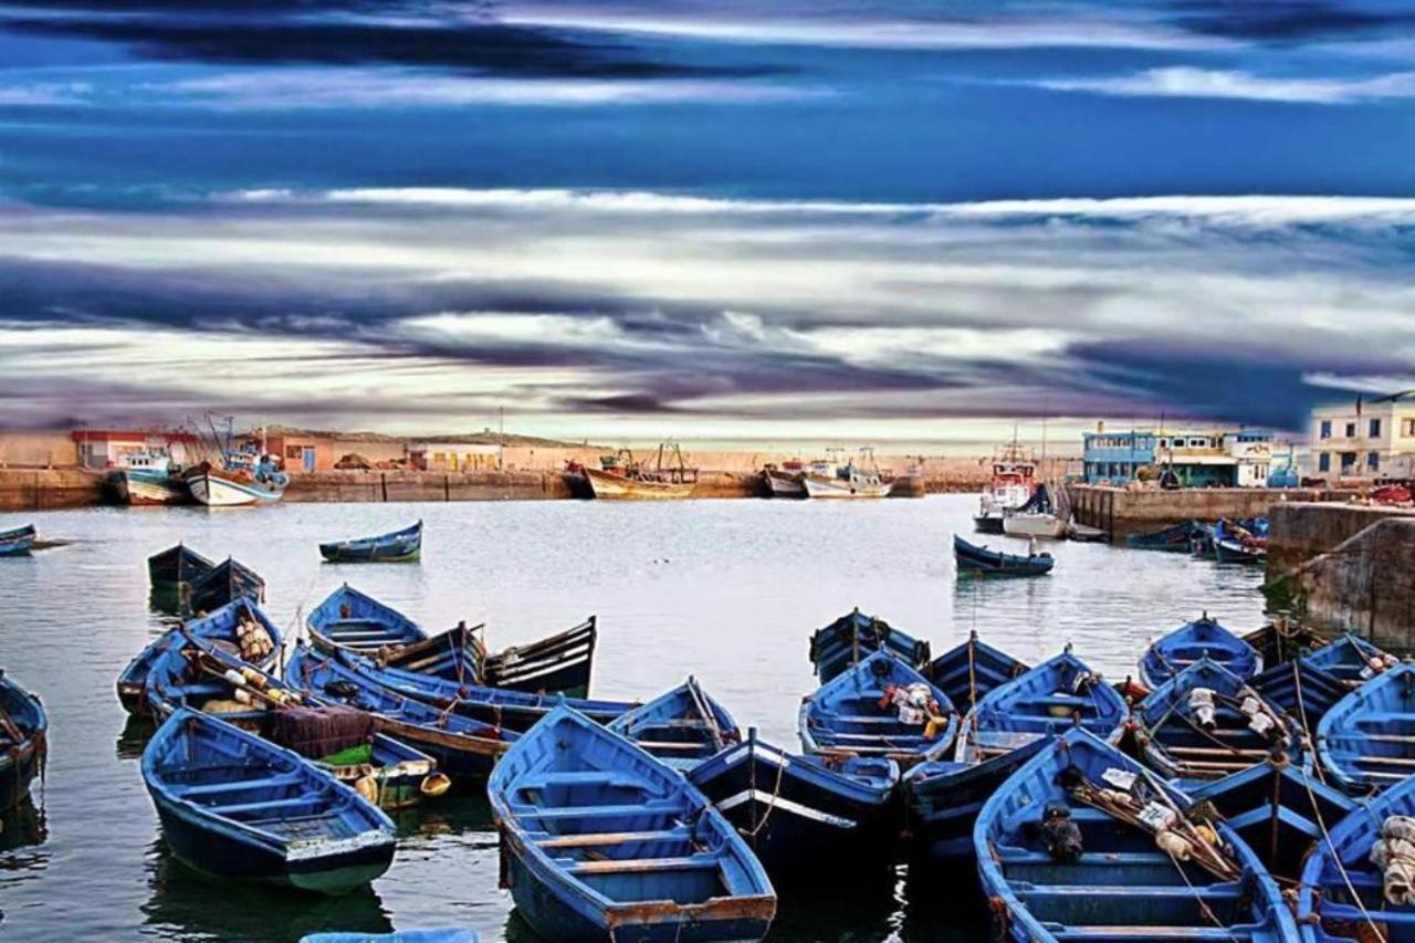
[(1415, 387), (1415, 7), (0, 3), (0, 426), (978, 443)]

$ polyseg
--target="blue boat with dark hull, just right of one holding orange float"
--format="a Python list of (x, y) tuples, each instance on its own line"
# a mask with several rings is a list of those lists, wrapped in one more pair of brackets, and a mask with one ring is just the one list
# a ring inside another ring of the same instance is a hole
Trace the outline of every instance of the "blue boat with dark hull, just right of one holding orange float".
[(1124, 722), (1121, 695), (1070, 651), (995, 687), (964, 718), (952, 760), (904, 776), (918, 848), (937, 861), (968, 858), (982, 804), (1053, 736), (1080, 725), (1111, 739)]

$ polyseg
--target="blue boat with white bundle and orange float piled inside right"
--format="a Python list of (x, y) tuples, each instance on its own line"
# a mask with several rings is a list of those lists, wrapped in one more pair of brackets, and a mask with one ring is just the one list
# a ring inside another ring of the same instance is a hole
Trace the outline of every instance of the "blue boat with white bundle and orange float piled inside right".
[[(947, 726), (925, 736), (927, 726), (906, 724), (889, 701), (890, 688), (924, 685)], [(942, 758), (958, 735), (958, 711), (948, 695), (887, 651), (876, 651), (801, 701), (797, 718), (807, 753), (876, 756), (901, 767)]]

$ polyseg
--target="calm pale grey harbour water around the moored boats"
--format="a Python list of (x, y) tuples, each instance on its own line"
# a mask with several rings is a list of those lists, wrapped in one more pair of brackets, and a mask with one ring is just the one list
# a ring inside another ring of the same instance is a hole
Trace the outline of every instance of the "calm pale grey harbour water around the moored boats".
[[(256, 568), (282, 626), (342, 581), (429, 629), (485, 622), (494, 647), (596, 613), (596, 694), (644, 698), (691, 673), (743, 726), (790, 746), (799, 698), (815, 687), (809, 633), (853, 606), (934, 651), (971, 629), (1029, 661), (1071, 641), (1112, 677), (1201, 610), (1235, 629), (1262, 619), (1255, 572), (1094, 544), (1053, 548), (1057, 568), (1044, 579), (958, 582), (948, 541), (971, 530), (974, 503), (290, 504), (0, 520), (34, 520), (44, 537), (72, 541), (0, 561), (0, 664), (41, 694), (52, 724), (38, 810), (0, 833), (0, 937), (293, 940), (457, 923), (488, 940), (533, 939), (497, 889), (497, 841), (478, 794), (406, 814), (393, 868), (352, 898), (215, 884), (167, 855), (139, 775), (149, 731), (126, 724), (113, 680), (167, 624), (149, 610), (144, 561), (177, 541)], [(419, 565), (320, 562), (320, 539), (417, 517)], [(884, 886), (784, 899), (771, 940), (978, 939), (958, 898), (957, 881), (901, 865)]]

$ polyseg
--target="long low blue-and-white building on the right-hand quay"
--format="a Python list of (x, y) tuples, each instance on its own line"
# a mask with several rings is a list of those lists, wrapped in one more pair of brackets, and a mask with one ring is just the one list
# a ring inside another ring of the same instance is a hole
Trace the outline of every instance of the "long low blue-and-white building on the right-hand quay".
[(1129, 429), (1098, 423), (1082, 435), (1081, 474), (1088, 484), (1124, 486), (1173, 473), (1184, 487), (1262, 487), (1275, 436), (1261, 429)]

